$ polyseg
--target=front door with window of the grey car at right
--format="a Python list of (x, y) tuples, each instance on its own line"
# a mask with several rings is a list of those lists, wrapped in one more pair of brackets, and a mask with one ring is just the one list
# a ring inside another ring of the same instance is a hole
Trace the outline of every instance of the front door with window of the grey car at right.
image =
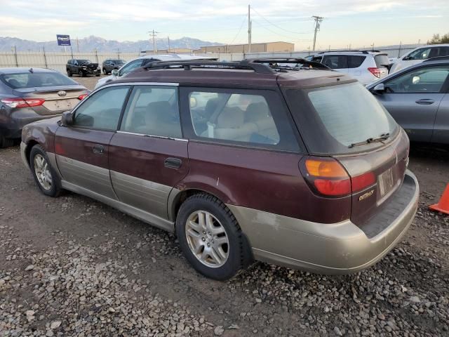
[(429, 65), (384, 82), (385, 92), (377, 99), (406, 130), (410, 140), (431, 141), (448, 73), (448, 65)]

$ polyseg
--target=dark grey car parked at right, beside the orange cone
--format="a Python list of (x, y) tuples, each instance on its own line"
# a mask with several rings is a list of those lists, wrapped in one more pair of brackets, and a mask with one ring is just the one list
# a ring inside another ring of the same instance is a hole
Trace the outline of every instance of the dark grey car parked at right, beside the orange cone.
[(412, 65), (367, 88), (410, 140), (449, 145), (449, 58)]

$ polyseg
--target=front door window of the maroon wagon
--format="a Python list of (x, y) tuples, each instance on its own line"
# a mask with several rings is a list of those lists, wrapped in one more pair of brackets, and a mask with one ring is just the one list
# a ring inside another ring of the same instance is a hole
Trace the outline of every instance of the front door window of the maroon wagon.
[(74, 126), (115, 131), (129, 88), (113, 86), (88, 96), (75, 110)]

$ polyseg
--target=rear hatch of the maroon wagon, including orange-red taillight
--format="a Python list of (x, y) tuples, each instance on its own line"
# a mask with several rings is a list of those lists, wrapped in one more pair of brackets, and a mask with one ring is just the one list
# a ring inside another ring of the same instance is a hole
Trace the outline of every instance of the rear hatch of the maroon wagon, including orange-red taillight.
[(302, 174), (312, 192), (351, 196), (351, 221), (363, 225), (403, 181), (406, 133), (357, 82), (290, 89), (286, 97), (310, 154)]

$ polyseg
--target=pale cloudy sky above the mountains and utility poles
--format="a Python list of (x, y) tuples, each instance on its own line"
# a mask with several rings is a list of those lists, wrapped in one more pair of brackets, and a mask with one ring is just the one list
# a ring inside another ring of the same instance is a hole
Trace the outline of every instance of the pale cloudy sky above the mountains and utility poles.
[[(252, 41), (312, 45), (314, 20), (324, 17), (317, 49), (425, 43), (449, 32), (449, 1), (250, 1)], [(248, 4), (237, 0), (0, 0), (0, 37), (51, 41), (95, 35), (118, 41), (193, 37), (222, 44), (248, 41)]]

